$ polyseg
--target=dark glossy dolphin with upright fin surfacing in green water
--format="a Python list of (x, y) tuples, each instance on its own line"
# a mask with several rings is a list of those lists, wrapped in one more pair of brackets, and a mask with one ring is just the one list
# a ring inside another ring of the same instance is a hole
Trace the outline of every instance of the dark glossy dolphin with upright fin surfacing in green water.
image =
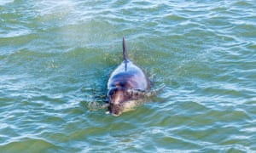
[(123, 37), (123, 54), (124, 61), (108, 79), (108, 110), (113, 116), (131, 110), (150, 89), (146, 74), (127, 57), (125, 37)]

